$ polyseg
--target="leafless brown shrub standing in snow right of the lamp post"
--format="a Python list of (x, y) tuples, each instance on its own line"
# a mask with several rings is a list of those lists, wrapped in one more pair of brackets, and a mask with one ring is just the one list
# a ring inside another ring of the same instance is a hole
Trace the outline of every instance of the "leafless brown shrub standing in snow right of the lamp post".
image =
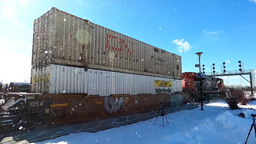
[(238, 103), (246, 105), (247, 99), (241, 86), (228, 86), (226, 88), (226, 101), (230, 109), (238, 109)]

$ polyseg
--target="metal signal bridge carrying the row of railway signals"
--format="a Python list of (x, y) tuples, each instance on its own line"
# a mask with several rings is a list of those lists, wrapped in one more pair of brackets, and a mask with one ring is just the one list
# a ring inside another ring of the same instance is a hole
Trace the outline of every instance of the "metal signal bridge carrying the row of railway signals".
[(250, 75), (250, 81), (248, 81), (246, 78), (244, 78), (247, 82), (251, 84), (251, 94), (253, 95), (253, 89), (256, 90), (256, 83), (255, 83), (255, 70), (247, 69), (247, 70), (233, 70), (233, 71), (219, 71), (215, 73), (205, 73), (205, 75), (210, 77), (215, 76), (241, 76), (242, 75)]

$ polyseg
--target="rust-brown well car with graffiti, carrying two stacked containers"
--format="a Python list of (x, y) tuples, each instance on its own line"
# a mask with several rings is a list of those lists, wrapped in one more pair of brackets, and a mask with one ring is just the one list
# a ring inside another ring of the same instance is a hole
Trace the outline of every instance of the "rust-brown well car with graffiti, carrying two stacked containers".
[(3, 93), (0, 131), (183, 105), (181, 57), (53, 7), (34, 21), (31, 93)]

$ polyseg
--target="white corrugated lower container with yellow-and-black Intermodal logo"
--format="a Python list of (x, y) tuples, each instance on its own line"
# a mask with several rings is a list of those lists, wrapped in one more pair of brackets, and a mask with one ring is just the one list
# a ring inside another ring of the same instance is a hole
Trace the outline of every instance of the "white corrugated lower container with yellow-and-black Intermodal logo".
[(181, 83), (179, 79), (51, 65), (33, 68), (32, 92), (100, 96), (174, 93), (182, 91)]

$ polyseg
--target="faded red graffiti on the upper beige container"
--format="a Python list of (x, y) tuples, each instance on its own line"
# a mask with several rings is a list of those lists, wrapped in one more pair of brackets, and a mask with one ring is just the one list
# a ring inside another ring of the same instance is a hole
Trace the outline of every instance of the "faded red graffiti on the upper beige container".
[(106, 47), (108, 48), (108, 49), (111, 49), (111, 50), (115, 50), (115, 51), (122, 51), (123, 49), (126, 49), (127, 50), (127, 52), (129, 52), (129, 54), (133, 54), (133, 43), (130, 45), (130, 47), (128, 46), (128, 44), (127, 43), (125, 43), (125, 41), (124, 41), (124, 39), (120, 39), (119, 40), (119, 47), (115, 47), (115, 46), (111, 46), (110, 44), (109, 44), (109, 40), (110, 39), (113, 39), (114, 40), (114, 42), (118, 42), (118, 39), (117, 39), (117, 37), (116, 36), (112, 36), (112, 35), (109, 35), (109, 34), (107, 34), (107, 37), (106, 37)]

